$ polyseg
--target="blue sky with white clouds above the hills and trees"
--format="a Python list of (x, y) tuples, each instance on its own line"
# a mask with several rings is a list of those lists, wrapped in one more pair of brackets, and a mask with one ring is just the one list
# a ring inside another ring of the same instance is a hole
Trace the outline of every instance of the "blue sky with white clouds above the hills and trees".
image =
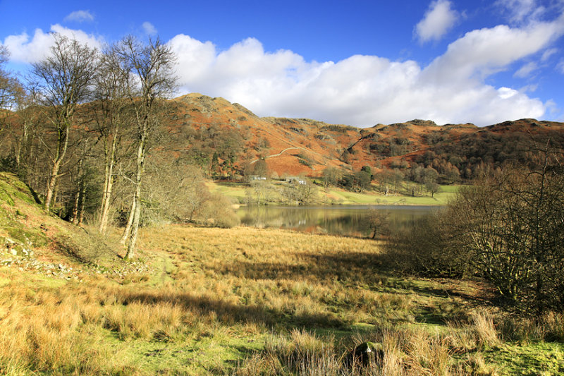
[(159, 37), (177, 95), (259, 116), (564, 121), (564, 0), (0, 0), (8, 70), (25, 77), (54, 32), (100, 49)]

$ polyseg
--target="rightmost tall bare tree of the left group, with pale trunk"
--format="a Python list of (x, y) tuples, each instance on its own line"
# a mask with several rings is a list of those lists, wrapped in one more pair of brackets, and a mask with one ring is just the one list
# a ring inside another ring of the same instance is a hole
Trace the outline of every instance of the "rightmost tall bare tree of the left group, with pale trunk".
[(145, 157), (151, 145), (151, 136), (159, 124), (159, 99), (173, 92), (175, 78), (173, 66), (176, 56), (158, 38), (143, 44), (133, 36), (125, 37), (114, 46), (123, 74), (132, 76), (128, 80), (128, 99), (135, 112), (137, 152), (135, 154), (135, 193), (130, 208), (130, 219), (125, 227), (122, 241), (128, 241), (125, 258), (133, 258), (141, 211), (142, 180)]

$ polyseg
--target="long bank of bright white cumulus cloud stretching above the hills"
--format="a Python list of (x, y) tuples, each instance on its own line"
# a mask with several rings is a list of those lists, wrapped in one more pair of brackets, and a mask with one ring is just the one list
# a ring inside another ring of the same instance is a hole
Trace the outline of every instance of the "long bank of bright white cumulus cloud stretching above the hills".
[(289, 50), (264, 51), (253, 38), (224, 51), (188, 35), (177, 35), (169, 43), (178, 54), (182, 92), (226, 97), (259, 116), (357, 126), (416, 118), (483, 126), (545, 114), (546, 104), (539, 99), (486, 85), (484, 79), (541, 51), (562, 32), (559, 22), (470, 32), (427, 67), (362, 55), (337, 62), (305, 61)]

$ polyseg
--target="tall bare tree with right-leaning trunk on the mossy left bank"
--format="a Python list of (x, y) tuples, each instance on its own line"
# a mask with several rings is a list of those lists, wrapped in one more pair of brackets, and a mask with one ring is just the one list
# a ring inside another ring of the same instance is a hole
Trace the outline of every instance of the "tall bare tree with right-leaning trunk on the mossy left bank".
[(32, 64), (32, 77), (39, 102), (45, 106), (56, 145), (50, 150), (51, 171), (44, 207), (49, 210), (68, 149), (69, 133), (78, 104), (90, 99), (92, 78), (98, 65), (98, 52), (77, 40), (55, 35), (51, 54)]

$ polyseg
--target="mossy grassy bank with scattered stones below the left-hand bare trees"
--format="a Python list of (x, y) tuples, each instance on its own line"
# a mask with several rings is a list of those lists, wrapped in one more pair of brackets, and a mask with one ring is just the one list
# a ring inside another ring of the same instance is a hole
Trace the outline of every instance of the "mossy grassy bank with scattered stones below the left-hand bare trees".
[(123, 279), (147, 269), (141, 262), (123, 262), (120, 251), (92, 231), (47, 214), (30, 188), (0, 172), (0, 266), (39, 280), (76, 281), (94, 274)]

